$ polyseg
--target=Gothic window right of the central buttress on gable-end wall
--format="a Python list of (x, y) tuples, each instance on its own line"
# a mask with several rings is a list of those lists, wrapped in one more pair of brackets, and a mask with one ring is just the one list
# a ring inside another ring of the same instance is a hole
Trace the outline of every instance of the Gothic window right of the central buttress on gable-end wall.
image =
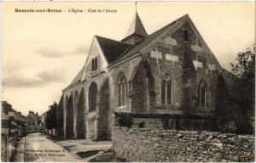
[(206, 107), (206, 82), (204, 80), (200, 80), (197, 86), (197, 100), (199, 107)]

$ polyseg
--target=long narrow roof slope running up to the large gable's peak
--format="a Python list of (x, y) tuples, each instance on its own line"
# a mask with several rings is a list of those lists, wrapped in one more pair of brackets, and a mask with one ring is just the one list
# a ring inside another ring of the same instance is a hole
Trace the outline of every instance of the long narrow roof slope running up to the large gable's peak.
[(117, 63), (119, 63), (120, 61), (124, 60), (124, 59), (128, 59), (130, 58), (132, 55), (139, 53), (145, 46), (148, 45), (149, 42), (153, 41), (156, 37), (159, 37), (160, 34), (162, 34), (163, 32), (165, 32), (166, 30), (168, 30), (169, 28), (171, 28), (172, 26), (176, 25), (177, 22), (179, 20), (184, 20), (186, 17), (188, 17), (188, 14), (185, 14), (183, 17), (173, 21), (172, 23), (170, 23), (169, 25), (166, 25), (162, 28), (160, 28), (160, 30), (155, 31), (154, 33), (150, 34), (148, 37), (143, 38), (140, 42), (137, 42), (134, 45), (131, 45), (131, 48), (128, 48), (125, 53), (122, 53), (118, 59), (116, 59), (112, 65), (115, 65)]

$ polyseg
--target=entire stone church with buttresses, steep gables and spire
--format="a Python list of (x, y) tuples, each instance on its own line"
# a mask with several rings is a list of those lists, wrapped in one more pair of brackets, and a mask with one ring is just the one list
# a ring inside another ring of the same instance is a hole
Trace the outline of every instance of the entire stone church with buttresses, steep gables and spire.
[(62, 90), (59, 136), (111, 139), (113, 112), (240, 115), (230, 103), (238, 79), (218, 63), (188, 14), (148, 35), (136, 13), (121, 41), (95, 36), (85, 60)]

